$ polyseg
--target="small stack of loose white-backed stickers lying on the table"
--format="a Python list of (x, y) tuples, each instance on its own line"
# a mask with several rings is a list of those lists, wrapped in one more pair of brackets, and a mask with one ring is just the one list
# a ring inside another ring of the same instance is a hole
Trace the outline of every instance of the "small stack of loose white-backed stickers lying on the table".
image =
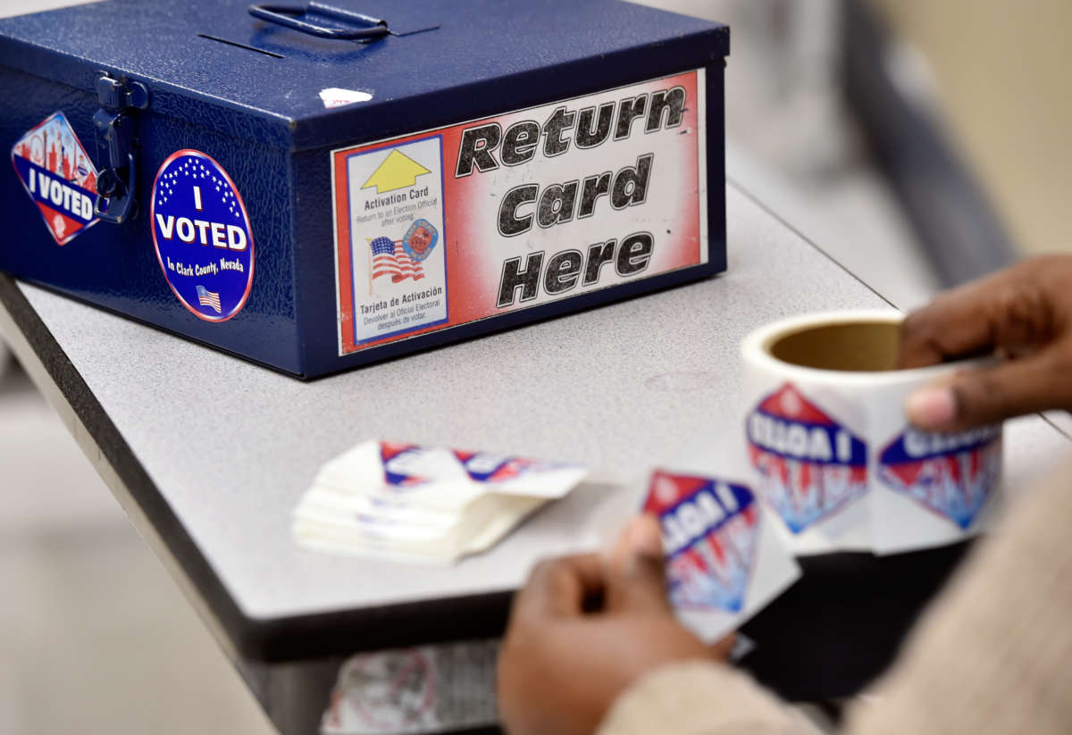
[(295, 510), (316, 551), (453, 561), (489, 549), (587, 470), (572, 464), (366, 441), (328, 462)]

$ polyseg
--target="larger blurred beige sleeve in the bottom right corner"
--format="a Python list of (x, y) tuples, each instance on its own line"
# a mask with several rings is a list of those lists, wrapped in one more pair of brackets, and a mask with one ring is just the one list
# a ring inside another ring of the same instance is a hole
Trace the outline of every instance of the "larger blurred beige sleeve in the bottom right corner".
[(1022, 496), (875, 693), (848, 732), (1072, 733), (1072, 466)]

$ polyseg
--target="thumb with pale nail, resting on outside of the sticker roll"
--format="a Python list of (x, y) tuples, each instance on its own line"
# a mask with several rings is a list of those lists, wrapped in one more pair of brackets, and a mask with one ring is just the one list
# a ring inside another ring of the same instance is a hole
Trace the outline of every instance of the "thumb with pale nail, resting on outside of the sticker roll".
[(963, 371), (908, 396), (908, 419), (926, 431), (955, 432), (1072, 405), (1072, 370), (1052, 349), (994, 368)]

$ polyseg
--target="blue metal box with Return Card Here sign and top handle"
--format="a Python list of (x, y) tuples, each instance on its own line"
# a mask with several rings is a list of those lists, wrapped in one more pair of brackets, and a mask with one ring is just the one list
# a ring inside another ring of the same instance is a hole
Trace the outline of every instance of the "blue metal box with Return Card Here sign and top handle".
[(0, 270), (314, 377), (726, 268), (725, 26), (613, 0), (0, 20)]

